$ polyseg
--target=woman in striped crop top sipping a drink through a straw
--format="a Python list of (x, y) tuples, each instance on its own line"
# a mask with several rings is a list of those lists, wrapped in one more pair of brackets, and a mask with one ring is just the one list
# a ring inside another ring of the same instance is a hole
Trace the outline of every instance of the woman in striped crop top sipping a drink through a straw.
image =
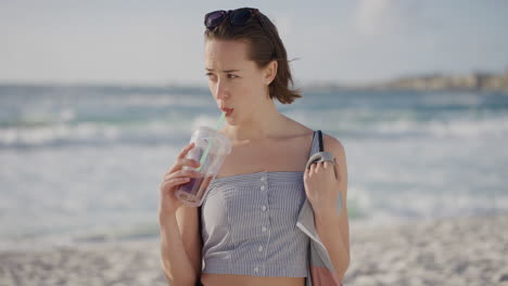
[[(292, 78), (285, 49), (268, 17), (250, 8), (215, 11), (205, 15), (205, 26), (206, 76), (217, 107), (227, 113), (220, 132), (231, 140), (232, 151), (200, 209), (174, 195), (198, 177), (182, 170), (199, 167), (185, 158), (192, 144), (165, 173), (160, 225), (166, 278), (172, 286), (309, 283), (309, 238), (295, 227), (308, 200), (334, 280), (342, 282), (350, 242), (341, 142), (325, 134), (323, 148), (335, 162), (305, 168), (318, 141), (314, 130), (276, 108), (274, 99), (289, 104), (301, 95), (288, 87)], [(338, 211), (334, 203), (341, 196), (344, 207)], [(313, 283), (323, 285), (314, 277)]]

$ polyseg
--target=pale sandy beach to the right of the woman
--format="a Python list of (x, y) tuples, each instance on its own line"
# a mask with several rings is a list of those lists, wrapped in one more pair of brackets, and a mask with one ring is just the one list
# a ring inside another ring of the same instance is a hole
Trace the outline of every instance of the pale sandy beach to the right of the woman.
[(352, 230), (347, 285), (508, 285), (508, 216)]

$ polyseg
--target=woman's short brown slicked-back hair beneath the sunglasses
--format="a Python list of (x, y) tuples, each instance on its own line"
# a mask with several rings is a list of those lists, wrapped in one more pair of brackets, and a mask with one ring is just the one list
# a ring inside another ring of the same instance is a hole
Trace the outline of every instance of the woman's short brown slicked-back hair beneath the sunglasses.
[(277, 98), (280, 103), (290, 104), (295, 99), (302, 98), (300, 90), (289, 88), (289, 82), (291, 86), (294, 82), (289, 67), (288, 54), (277, 27), (261, 12), (242, 26), (231, 25), (228, 16), (219, 26), (212, 30), (205, 29), (204, 36), (205, 40), (246, 41), (249, 60), (254, 61), (259, 68), (266, 67), (271, 61), (277, 61), (276, 77), (268, 86), (270, 99)]

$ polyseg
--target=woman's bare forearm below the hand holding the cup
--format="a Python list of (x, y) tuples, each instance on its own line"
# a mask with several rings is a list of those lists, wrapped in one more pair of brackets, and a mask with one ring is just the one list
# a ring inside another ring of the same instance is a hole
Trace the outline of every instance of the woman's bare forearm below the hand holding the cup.
[(193, 286), (198, 278), (183, 247), (176, 216), (161, 220), (161, 261), (164, 275), (172, 286)]

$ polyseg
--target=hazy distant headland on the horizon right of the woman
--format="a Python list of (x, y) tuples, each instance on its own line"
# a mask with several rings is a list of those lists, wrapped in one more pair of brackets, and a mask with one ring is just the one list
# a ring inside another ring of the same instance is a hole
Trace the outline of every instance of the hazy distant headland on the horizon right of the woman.
[(501, 74), (471, 73), (466, 75), (430, 74), (407, 76), (393, 80), (364, 84), (321, 82), (306, 84), (304, 89), (332, 90), (431, 90), (431, 91), (501, 91), (508, 92), (508, 69)]

